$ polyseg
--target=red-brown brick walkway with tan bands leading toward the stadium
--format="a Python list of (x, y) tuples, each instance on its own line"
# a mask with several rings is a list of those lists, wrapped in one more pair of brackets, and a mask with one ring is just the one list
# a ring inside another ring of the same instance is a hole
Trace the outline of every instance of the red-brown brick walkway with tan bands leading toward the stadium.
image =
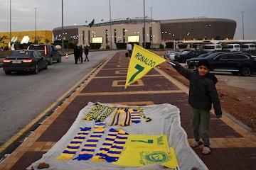
[[(0, 169), (21, 170), (53, 147), (67, 132), (79, 111), (89, 101), (125, 105), (171, 103), (181, 110), (181, 125), (193, 141), (188, 88), (159, 69), (124, 89), (129, 59), (117, 52), (99, 69), (88, 75), (80, 88), (67, 98), (43, 123), (0, 164)], [(227, 116), (211, 116), (210, 143), (212, 153), (202, 155), (194, 149), (209, 169), (255, 169), (256, 137)]]

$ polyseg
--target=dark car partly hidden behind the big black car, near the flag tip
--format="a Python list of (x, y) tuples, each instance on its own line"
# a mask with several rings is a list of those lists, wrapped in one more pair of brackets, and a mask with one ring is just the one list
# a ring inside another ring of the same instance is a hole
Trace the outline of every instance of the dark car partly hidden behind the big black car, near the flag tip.
[(190, 51), (183, 51), (180, 55), (175, 55), (176, 62), (186, 62), (186, 60), (191, 59), (193, 57), (198, 57), (198, 55), (202, 55), (207, 53), (203, 50), (190, 50)]

